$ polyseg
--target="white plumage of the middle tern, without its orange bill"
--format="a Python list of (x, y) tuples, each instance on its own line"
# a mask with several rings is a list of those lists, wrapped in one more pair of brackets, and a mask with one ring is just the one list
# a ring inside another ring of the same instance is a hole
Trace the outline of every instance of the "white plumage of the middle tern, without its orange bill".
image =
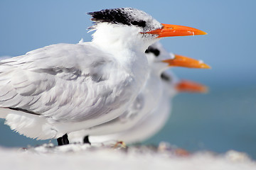
[[(154, 113), (163, 98), (162, 95), (166, 95), (167, 91), (167, 88), (163, 87), (160, 74), (164, 69), (168, 69), (169, 66), (161, 62), (161, 60), (172, 58), (172, 56), (170, 56), (169, 52), (166, 52), (159, 43), (155, 43), (152, 47), (158, 48), (161, 52), (158, 57), (154, 56), (152, 53), (146, 55), (150, 66), (149, 79), (147, 79), (146, 86), (144, 86), (144, 89), (140, 92), (135, 101), (122, 115), (110, 122), (97, 125), (90, 129), (81, 130), (80, 132), (70, 133), (69, 137), (71, 141), (73, 138), (79, 136), (111, 135), (125, 132), (126, 130), (133, 129), (134, 126), (136, 127), (143, 119), (147, 119)], [(173, 83), (174, 79), (171, 82)], [(169, 88), (171, 89), (172, 87), (170, 86)], [(77, 139), (74, 140), (77, 141)]]

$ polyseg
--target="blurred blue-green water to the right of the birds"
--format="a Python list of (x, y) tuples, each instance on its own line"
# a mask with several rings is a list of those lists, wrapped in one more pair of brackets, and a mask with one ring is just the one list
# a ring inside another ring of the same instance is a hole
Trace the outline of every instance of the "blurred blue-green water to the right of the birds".
[(168, 141), (190, 151), (235, 149), (256, 159), (256, 86), (218, 88), (209, 94), (180, 94), (171, 118), (146, 143)]

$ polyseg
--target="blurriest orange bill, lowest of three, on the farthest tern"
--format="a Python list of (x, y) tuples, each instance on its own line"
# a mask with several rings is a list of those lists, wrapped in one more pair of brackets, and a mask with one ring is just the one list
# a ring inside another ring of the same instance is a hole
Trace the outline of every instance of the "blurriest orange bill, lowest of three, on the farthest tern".
[(176, 84), (176, 90), (178, 92), (207, 93), (208, 87), (193, 81), (181, 80)]

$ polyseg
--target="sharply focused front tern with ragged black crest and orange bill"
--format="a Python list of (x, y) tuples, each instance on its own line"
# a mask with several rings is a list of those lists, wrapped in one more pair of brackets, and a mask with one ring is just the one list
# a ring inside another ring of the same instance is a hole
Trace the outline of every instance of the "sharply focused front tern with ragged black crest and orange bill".
[(88, 13), (92, 42), (60, 43), (0, 62), (0, 118), (37, 140), (58, 139), (124, 113), (149, 74), (144, 54), (160, 38), (205, 35), (135, 8)]

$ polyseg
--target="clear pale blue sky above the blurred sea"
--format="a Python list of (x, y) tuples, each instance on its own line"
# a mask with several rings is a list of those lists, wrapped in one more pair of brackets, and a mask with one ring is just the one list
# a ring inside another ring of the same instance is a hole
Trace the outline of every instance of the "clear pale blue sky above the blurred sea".
[(60, 42), (91, 40), (87, 12), (132, 7), (161, 23), (191, 26), (208, 35), (164, 38), (166, 50), (201, 59), (210, 70), (180, 69), (178, 77), (208, 85), (256, 84), (256, 1), (0, 1), (0, 56), (23, 55)]

